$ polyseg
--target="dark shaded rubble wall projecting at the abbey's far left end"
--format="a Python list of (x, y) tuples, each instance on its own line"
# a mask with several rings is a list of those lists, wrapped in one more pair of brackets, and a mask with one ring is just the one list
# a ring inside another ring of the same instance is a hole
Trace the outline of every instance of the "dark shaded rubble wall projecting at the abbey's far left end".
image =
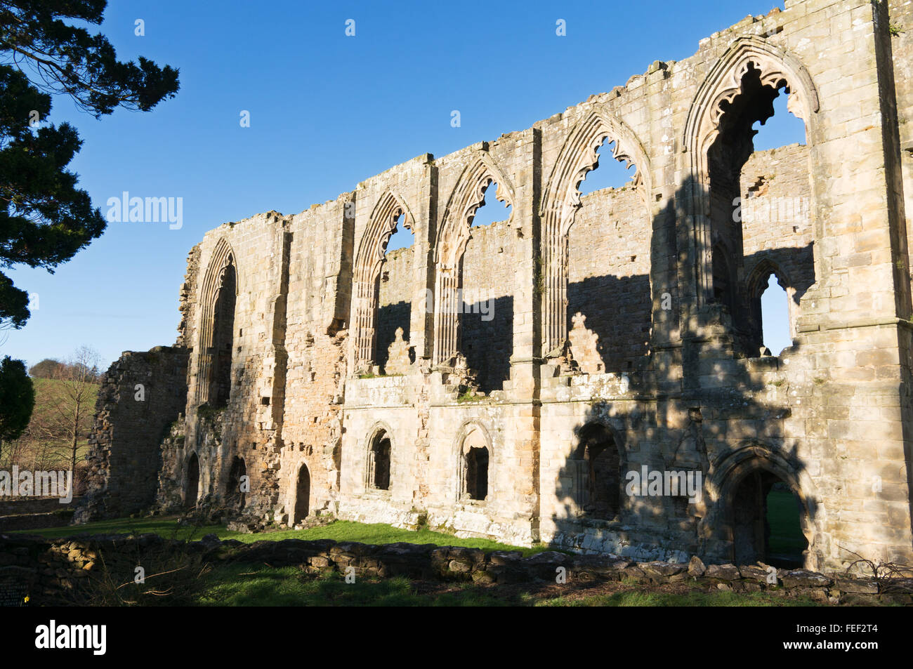
[(150, 507), (162, 468), (159, 444), (186, 404), (187, 351), (125, 351), (101, 377), (89, 433), (89, 481), (74, 517), (82, 523)]

